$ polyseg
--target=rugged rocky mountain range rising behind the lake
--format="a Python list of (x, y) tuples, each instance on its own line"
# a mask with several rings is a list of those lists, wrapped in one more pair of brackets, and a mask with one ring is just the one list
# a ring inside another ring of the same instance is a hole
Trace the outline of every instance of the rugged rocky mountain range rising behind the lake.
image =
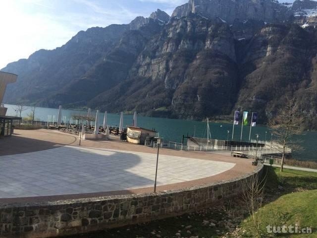
[(4, 102), (185, 119), (247, 110), (265, 122), (292, 96), (316, 128), (316, 22), (312, 0), (189, 0), (9, 63), (19, 77)]

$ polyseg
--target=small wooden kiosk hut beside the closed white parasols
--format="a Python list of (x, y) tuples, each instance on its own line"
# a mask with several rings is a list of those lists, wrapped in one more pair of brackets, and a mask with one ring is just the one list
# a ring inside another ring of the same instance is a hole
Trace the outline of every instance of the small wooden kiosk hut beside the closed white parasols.
[(158, 132), (142, 127), (127, 126), (127, 142), (134, 144), (144, 144), (158, 137)]

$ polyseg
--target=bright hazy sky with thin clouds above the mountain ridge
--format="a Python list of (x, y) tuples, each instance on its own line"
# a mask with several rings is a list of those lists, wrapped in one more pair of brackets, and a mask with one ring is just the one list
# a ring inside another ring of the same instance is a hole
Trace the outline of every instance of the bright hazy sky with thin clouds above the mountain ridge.
[[(188, 0), (1, 0), (0, 69), (40, 49), (65, 44), (80, 30), (129, 23), (157, 8), (171, 14)], [(293, 1), (282, 0), (281, 2)]]

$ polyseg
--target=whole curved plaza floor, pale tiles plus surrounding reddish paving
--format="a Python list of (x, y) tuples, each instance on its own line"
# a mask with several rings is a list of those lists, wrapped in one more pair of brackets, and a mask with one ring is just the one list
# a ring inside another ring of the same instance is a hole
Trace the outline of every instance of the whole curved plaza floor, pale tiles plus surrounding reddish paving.
[[(82, 140), (79, 147), (78, 137), (68, 133), (48, 129), (14, 132), (12, 137), (0, 141), (0, 164), (3, 162), (1, 166), (5, 168), (0, 172), (0, 203), (153, 192), (157, 149), (118, 140)], [(112, 169), (116, 174), (109, 183)], [(235, 179), (254, 169), (251, 159), (231, 157), (230, 152), (162, 148), (157, 191)]]

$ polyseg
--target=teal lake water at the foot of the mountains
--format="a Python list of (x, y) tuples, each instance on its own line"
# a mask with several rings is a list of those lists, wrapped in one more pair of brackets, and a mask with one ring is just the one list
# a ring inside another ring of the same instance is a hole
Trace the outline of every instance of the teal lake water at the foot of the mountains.
[[(5, 104), (8, 108), (6, 113), (7, 116), (18, 116), (15, 110), (15, 105)], [(31, 113), (31, 107), (26, 107), (26, 110), (22, 112), (22, 117), (27, 117)], [(53, 108), (40, 108), (37, 107), (35, 110), (35, 119), (41, 121), (57, 120), (58, 109)], [(62, 120), (70, 122), (71, 115), (83, 114), (87, 115), (87, 111), (76, 111), (76, 110), (62, 110)], [(92, 115), (96, 115), (96, 111), (92, 111)], [(261, 115), (259, 115), (261, 117)], [(124, 115), (123, 124), (132, 125), (133, 115)], [(104, 113), (100, 113), (99, 116), (100, 124), (103, 124)], [(119, 114), (107, 114), (107, 124), (110, 126), (118, 126), (120, 121)], [(75, 123), (73, 120), (72, 123)], [(232, 138), (232, 124), (229, 123), (214, 123), (210, 122), (211, 138), (226, 140), (229, 130), (229, 140)], [(155, 128), (159, 132), (159, 135), (164, 138), (165, 141), (181, 142), (182, 135), (195, 135), (196, 137), (207, 138), (207, 123), (195, 120), (182, 120), (182, 119), (166, 119), (166, 118), (151, 118), (138, 116), (138, 126), (144, 128)], [(250, 126), (243, 127), (243, 140), (248, 141), (249, 139)], [(266, 132), (266, 133), (265, 133)], [(252, 127), (251, 139), (256, 139), (256, 134), (259, 134), (259, 140), (270, 140), (271, 134), (268, 128), (263, 126)], [(240, 140), (241, 136), (241, 124), (236, 125), (234, 129), (234, 140)], [(317, 161), (317, 132), (307, 131), (303, 135), (296, 136), (296, 139), (300, 140), (300, 144), (304, 148), (301, 152), (294, 153), (294, 158), (301, 160), (315, 160)]]

